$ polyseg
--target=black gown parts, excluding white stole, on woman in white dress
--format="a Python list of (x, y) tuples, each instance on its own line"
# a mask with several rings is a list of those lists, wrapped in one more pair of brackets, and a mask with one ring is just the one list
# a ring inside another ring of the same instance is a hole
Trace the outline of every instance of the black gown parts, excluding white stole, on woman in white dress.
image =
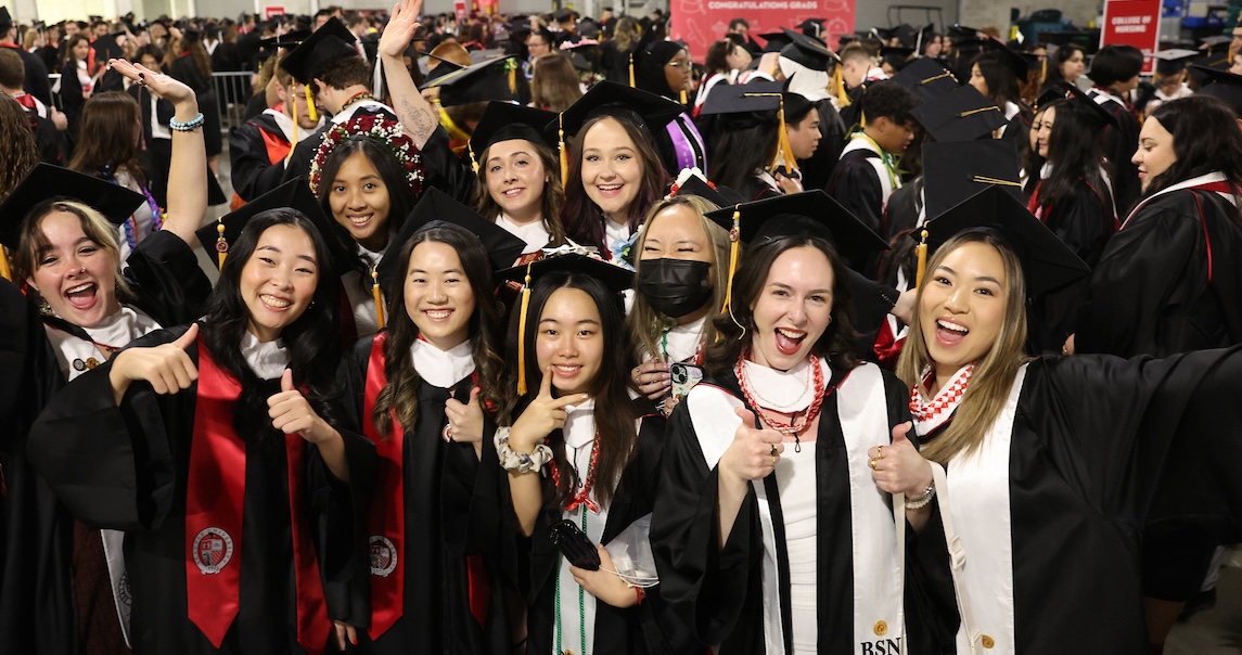
[[(832, 372), (832, 381), (841, 371)], [(888, 426), (909, 419), (909, 390), (884, 372)], [(709, 381), (737, 398), (744, 398), (732, 372)], [(831, 385), (832, 382), (830, 382)], [(745, 401), (743, 401), (745, 402)], [(759, 517), (759, 497), (748, 489), (738, 510), (729, 541), (720, 547), (717, 525), (718, 470), (704, 465), (703, 449), (694, 433), (689, 411), (682, 403), (669, 419), (667, 449), (661, 474), (661, 496), (652, 517), (651, 542), (664, 599), (679, 619), (693, 626), (702, 644), (719, 644), (717, 655), (764, 653), (763, 558), (764, 537)], [(748, 406), (749, 409), (754, 411)], [(884, 435), (877, 435), (877, 439)], [(853, 640), (853, 561), (851, 556), (850, 475), (845, 434), (837, 413), (837, 394), (830, 393), (820, 412), (816, 433), (816, 505), (818, 516), (817, 590), (818, 640), (821, 654), (854, 654)], [(857, 464), (857, 463), (854, 463)], [(773, 512), (777, 548), (785, 553), (784, 524), (776, 478), (764, 480)], [(907, 532), (909, 535), (909, 531)], [(787, 553), (777, 563), (779, 576), (789, 579)], [(785, 643), (792, 630), (787, 608), (790, 589), (780, 589)], [(913, 589), (907, 586), (905, 653), (927, 653), (919, 645), (920, 622), (909, 609)]]

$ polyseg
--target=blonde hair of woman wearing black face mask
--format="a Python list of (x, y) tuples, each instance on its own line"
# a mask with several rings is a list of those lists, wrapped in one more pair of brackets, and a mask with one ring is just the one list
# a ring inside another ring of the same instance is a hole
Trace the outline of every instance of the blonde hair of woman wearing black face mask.
[[(713, 292), (708, 305), (709, 320), (703, 323), (703, 336), (699, 342), (710, 345), (715, 341), (715, 328), (710, 320), (710, 315), (724, 304), (724, 294), (729, 288), (729, 233), (705, 216), (719, 207), (699, 196), (673, 196), (656, 202), (651, 207), (651, 211), (647, 212), (647, 218), (643, 221), (642, 229), (638, 232), (638, 238), (633, 244), (635, 270), (642, 269), (642, 247), (647, 241), (647, 229), (651, 227), (652, 221), (656, 220), (660, 212), (676, 207), (688, 207), (698, 215), (699, 225), (703, 226), (703, 233), (707, 234), (708, 253), (712, 262), (708, 280), (712, 284)], [(650, 355), (658, 355), (661, 352), (657, 341), (664, 328), (672, 323), (672, 319), (656, 311), (646, 296), (636, 293), (633, 294), (633, 306), (630, 309), (626, 321), (628, 321), (631, 331), (637, 337), (640, 356), (642, 355), (642, 350), (646, 350)]]

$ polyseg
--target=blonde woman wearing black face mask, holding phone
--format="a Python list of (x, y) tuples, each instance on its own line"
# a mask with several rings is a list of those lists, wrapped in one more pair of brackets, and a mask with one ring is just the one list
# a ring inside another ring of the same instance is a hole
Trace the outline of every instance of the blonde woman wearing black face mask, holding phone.
[[(702, 186), (682, 185), (683, 192)], [(676, 186), (676, 185), (674, 185)], [(724, 301), (729, 275), (729, 233), (704, 215), (717, 205), (699, 195), (657, 202), (635, 242), (633, 306), (630, 328), (640, 363), (635, 385), (664, 413), (677, 404), (671, 365), (699, 365), (704, 345), (715, 339), (712, 318)]]

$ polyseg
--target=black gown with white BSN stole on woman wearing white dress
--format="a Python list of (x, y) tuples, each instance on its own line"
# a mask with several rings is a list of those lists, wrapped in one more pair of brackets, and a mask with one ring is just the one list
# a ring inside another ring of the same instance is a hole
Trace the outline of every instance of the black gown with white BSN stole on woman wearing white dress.
[[(883, 497), (887, 494), (874, 486), (863, 464), (866, 449), (888, 443), (892, 426), (909, 418), (908, 391), (874, 365), (861, 365), (848, 377), (845, 371), (830, 372), (828, 388), (840, 387), (823, 399), (815, 445), (818, 653), (927, 651), (919, 649), (925, 638), (915, 635), (920, 622), (914, 617), (905, 618), (907, 638), (913, 645), (893, 643), (900, 629), (902, 599), (892, 510)], [(696, 429), (705, 421), (696, 414), (727, 414), (722, 401), (744, 406), (743, 397), (730, 372), (723, 380), (696, 386), (673, 411), (661, 496), (652, 519), (652, 550), (664, 598), (677, 617), (692, 625), (702, 644), (719, 645), (713, 650), (718, 655), (785, 654), (792, 651), (794, 628), (786, 526), (777, 490), (781, 466), (751, 483), (722, 547), (717, 463), (733, 440), (733, 432), (723, 423), (735, 429), (738, 421), (722, 421), (710, 434)], [(887, 540), (888, 557), (876, 555), (882, 548), (868, 547), (873, 545), (861, 541), (862, 533), (876, 538), (877, 545)], [(775, 562), (768, 552), (776, 553)], [(856, 576), (856, 567), (866, 571), (864, 578)], [(883, 609), (877, 609), (871, 603), (881, 589), (898, 595), (886, 597), (888, 602), (879, 603)], [(910, 593), (907, 590), (908, 597)], [(856, 607), (859, 602), (868, 603), (874, 614), (862, 615), (863, 609)], [(883, 625), (877, 617), (886, 617)], [(894, 646), (900, 650), (889, 650)]]

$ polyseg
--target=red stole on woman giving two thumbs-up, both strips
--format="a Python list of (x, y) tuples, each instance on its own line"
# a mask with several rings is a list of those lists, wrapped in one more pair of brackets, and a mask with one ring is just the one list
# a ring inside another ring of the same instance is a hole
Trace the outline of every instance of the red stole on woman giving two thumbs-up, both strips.
[[(197, 406), (185, 497), (186, 605), (190, 620), (216, 648), (240, 608), (241, 540), (246, 497), (246, 443), (232, 426), (241, 385), (220, 368), (200, 336)], [(332, 631), (312, 531), (299, 510), (306, 495), (306, 444), (286, 435), (289, 525), (297, 589), (298, 644), (323, 653)]]

